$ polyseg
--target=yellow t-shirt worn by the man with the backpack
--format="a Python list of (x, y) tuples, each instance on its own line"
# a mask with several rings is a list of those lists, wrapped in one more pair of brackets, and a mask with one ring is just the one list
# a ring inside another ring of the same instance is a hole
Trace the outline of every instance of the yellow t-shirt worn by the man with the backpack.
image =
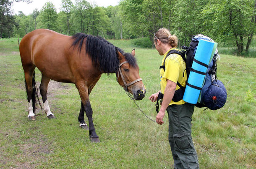
[[(170, 50), (177, 50), (176, 48), (171, 48)], [(185, 86), (185, 82), (187, 79), (187, 73), (185, 71), (185, 62), (183, 61), (182, 57), (176, 53), (170, 54), (165, 59), (167, 53), (170, 51), (168, 50), (162, 59), (162, 65), (164, 65), (165, 61), (165, 71), (164, 69), (160, 69), (160, 86), (161, 92), (165, 94), (165, 86), (167, 84), (167, 79), (177, 83), (177, 81), (182, 85)], [(184, 77), (183, 77), (184, 72)], [(178, 90), (180, 87), (177, 85), (175, 90)], [(171, 101), (169, 105), (172, 104), (184, 104), (183, 100), (178, 102)]]

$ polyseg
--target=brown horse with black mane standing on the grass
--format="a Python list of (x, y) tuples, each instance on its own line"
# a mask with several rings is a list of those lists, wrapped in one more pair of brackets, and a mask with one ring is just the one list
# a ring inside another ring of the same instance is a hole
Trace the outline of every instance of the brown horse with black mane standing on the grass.
[(94, 142), (99, 142), (99, 137), (92, 121), (89, 95), (102, 73), (116, 73), (120, 86), (133, 94), (135, 100), (141, 100), (145, 96), (146, 90), (134, 58), (135, 50), (131, 54), (124, 53), (100, 37), (84, 33), (77, 33), (71, 37), (52, 30), (38, 29), (22, 38), (20, 55), (25, 73), (29, 120), (35, 120), (35, 104), (36, 100), (39, 101), (34, 80), (34, 69), (37, 67), (42, 73), (39, 88), (47, 117), (55, 118), (47, 101), (47, 86), (50, 79), (76, 84), (81, 97), (78, 121), (81, 128), (87, 128), (84, 121), (85, 111), (89, 121), (89, 136)]

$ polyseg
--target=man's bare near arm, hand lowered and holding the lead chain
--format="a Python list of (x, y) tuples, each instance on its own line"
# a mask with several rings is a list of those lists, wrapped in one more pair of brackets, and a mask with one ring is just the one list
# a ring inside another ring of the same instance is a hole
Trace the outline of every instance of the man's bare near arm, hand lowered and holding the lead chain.
[(175, 82), (167, 79), (162, 106), (160, 108), (159, 113), (157, 114), (157, 119), (156, 119), (157, 124), (162, 125), (164, 123), (163, 118), (165, 116), (165, 110), (170, 104), (170, 102), (172, 101), (173, 95), (175, 93), (176, 85), (177, 84)]

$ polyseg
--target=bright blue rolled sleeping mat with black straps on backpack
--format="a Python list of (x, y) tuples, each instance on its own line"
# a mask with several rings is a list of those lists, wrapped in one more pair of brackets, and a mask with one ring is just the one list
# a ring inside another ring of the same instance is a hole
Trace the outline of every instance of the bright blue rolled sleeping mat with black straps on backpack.
[(202, 90), (204, 77), (211, 59), (214, 42), (199, 40), (183, 100), (196, 104)]

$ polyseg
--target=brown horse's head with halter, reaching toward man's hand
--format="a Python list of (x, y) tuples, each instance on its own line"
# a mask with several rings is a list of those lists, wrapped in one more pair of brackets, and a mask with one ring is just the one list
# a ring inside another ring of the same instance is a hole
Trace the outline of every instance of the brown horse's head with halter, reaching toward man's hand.
[(130, 53), (122, 54), (118, 52), (119, 68), (117, 81), (125, 91), (133, 94), (135, 100), (142, 100), (145, 97), (146, 88), (138, 74), (138, 65), (134, 58), (135, 49)]

